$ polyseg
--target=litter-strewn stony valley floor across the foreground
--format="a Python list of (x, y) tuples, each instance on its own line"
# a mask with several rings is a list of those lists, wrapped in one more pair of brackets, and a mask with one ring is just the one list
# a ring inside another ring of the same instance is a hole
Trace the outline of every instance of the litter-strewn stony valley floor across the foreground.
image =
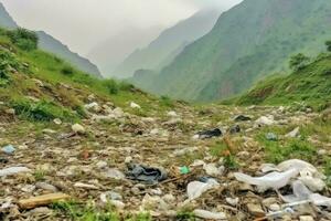
[[(263, 164), (291, 158), (324, 173), (330, 127), (314, 126), (322, 116), (309, 108), (181, 106), (141, 117), (93, 96), (85, 108), (88, 117), (78, 125), (25, 122), (11, 109), (0, 116), (0, 145), (13, 147), (2, 149), (0, 168), (29, 169), (0, 177), (0, 220), (331, 220), (330, 208), (311, 202), (279, 212), (279, 194), (291, 193), (290, 181), (278, 194), (235, 177), (260, 176)], [(238, 115), (250, 119), (235, 120)], [(214, 128), (222, 136), (196, 135)], [(168, 177), (152, 183), (128, 179), (130, 164), (163, 169)], [(71, 199), (30, 208), (21, 201), (56, 192)], [(330, 197), (325, 186), (318, 192)]]

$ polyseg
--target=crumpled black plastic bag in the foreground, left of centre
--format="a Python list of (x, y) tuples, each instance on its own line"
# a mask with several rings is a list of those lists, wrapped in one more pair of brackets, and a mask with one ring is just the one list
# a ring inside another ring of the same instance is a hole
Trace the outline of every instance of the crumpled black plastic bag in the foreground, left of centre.
[(131, 180), (154, 183), (168, 178), (164, 170), (142, 165), (128, 165), (127, 178)]

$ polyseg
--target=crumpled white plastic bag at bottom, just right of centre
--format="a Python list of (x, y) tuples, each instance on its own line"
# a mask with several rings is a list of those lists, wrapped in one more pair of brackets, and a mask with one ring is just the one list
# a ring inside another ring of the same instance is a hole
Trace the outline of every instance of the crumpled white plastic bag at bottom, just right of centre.
[(199, 198), (203, 192), (218, 186), (220, 183), (214, 179), (209, 179), (207, 182), (192, 181), (188, 185), (186, 189), (189, 200), (194, 200)]

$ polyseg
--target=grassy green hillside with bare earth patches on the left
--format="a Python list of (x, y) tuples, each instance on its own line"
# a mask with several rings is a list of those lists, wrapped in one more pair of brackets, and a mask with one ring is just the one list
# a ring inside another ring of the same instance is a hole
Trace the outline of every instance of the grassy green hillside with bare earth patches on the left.
[[(83, 105), (92, 95), (128, 109), (135, 101), (141, 105), (136, 113), (140, 115), (162, 106), (132, 85), (95, 78), (39, 50), (34, 32), (0, 30), (0, 102), (6, 108), (32, 120), (77, 122), (84, 117)], [(0, 113), (6, 108), (2, 106)]]

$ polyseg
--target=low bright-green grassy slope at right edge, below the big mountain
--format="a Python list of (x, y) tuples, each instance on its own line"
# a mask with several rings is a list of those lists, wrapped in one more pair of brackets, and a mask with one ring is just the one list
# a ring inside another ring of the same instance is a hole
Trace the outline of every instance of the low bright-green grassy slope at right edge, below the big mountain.
[(287, 76), (270, 76), (235, 99), (237, 105), (291, 105), (295, 102), (323, 109), (331, 106), (331, 54)]

